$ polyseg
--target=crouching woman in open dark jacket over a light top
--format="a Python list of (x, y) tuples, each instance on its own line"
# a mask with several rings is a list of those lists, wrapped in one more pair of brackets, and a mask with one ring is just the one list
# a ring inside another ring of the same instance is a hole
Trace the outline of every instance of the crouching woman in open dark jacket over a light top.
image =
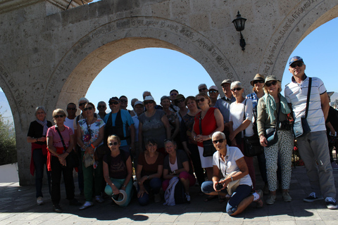
[(189, 187), (196, 183), (192, 168), (189, 167), (189, 158), (187, 154), (184, 153), (184, 150), (176, 150), (177, 146), (175, 141), (165, 141), (164, 147), (168, 155), (165, 156), (163, 163), (163, 179), (165, 179), (162, 184), (163, 191), (168, 188), (170, 179), (177, 176), (180, 178), (180, 181), (182, 181), (185, 198), (187, 198), (189, 202)]

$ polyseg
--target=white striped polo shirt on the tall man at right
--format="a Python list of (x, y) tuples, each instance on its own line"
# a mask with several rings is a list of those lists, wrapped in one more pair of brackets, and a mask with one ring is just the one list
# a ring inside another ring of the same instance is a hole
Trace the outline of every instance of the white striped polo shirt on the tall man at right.
[[(285, 86), (285, 98), (287, 98), (287, 103), (292, 103), (295, 119), (305, 117), (308, 81), (306, 75), (301, 84), (298, 84), (294, 77), (292, 77), (292, 82)], [(326, 89), (323, 81), (318, 77), (312, 77), (308, 117), (306, 118), (311, 132), (326, 131), (324, 113), (320, 102), (320, 95), (325, 94), (325, 92)]]

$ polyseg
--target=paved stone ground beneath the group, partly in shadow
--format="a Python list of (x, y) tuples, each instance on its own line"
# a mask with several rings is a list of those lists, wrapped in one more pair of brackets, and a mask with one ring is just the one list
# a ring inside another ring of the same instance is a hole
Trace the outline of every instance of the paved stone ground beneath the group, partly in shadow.
[[(336, 187), (338, 187), (338, 171), (334, 171)], [(258, 187), (263, 186), (260, 177), (257, 177)], [(38, 206), (35, 200), (35, 186), (18, 186), (18, 183), (0, 184), (0, 224), (151, 224), (151, 225), (202, 225), (202, 224), (334, 224), (338, 222), (338, 210), (328, 210), (324, 201), (304, 203), (303, 198), (311, 193), (306, 171), (303, 167), (292, 169), (290, 195), (291, 203), (282, 201), (278, 193), (274, 205), (264, 205), (256, 209), (250, 205), (242, 214), (233, 218), (224, 212), (226, 203), (218, 200), (204, 202), (204, 196), (199, 195), (199, 188), (194, 186), (191, 191), (190, 204), (163, 206), (154, 203), (141, 207), (137, 200), (132, 200), (128, 207), (121, 208), (113, 205), (110, 199), (105, 203), (95, 203), (86, 210), (68, 205), (65, 200), (64, 188), (61, 188), (63, 199), (61, 207), (63, 213), (52, 212), (49, 193), (44, 186), (44, 205)], [(77, 191), (78, 192), (78, 191)], [(83, 197), (76, 198), (83, 201)]]

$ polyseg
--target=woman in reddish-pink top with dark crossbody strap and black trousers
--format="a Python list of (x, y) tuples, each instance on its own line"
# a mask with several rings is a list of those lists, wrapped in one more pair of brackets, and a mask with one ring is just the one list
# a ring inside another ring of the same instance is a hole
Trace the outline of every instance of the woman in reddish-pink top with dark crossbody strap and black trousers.
[(81, 203), (74, 198), (73, 163), (69, 156), (74, 148), (73, 130), (63, 124), (66, 116), (61, 108), (53, 111), (53, 117), (56, 125), (49, 127), (46, 134), (49, 150), (48, 167), (51, 171), (51, 202), (54, 212), (62, 212), (62, 208), (58, 205), (61, 200), (61, 174), (69, 204), (81, 205)]

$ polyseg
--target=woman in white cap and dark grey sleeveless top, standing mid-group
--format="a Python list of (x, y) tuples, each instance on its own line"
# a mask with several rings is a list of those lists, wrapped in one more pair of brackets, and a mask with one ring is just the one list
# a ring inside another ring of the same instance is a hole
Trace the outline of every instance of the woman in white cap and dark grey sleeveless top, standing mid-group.
[(156, 110), (153, 96), (146, 96), (143, 101), (146, 112), (139, 116), (139, 149), (148, 139), (154, 139), (157, 149), (165, 155), (164, 140), (171, 138), (171, 129), (168, 118), (163, 110)]

